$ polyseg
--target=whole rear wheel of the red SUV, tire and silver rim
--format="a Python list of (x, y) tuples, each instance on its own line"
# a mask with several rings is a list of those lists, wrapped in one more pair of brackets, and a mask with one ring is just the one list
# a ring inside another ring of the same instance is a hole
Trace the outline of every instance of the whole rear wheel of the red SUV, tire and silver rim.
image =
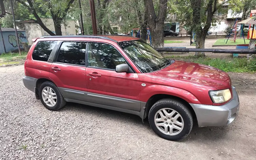
[(48, 110), (59, 110), (66, 105), (66, 101), (53, 82), (43, 82), (39, 87), (40, 100)]

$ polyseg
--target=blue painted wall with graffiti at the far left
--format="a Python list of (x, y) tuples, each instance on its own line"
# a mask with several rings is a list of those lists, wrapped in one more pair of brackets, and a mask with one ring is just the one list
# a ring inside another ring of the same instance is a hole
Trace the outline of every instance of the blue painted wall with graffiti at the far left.
[[(14, 31), (5, 31), (2, 33), (3, 33), (3, 40), (4, 40), (6, 52), (18, 49), (15, 32)], [(23, 45), (21, 42), (28, 42), (26, 32), (18, 31), (18, 37), (19, 37), (19, 42), (20, 42), (19, 43), (20, 48), (23, 48)], [(0, 38), (0, 54), (1, 53), (4, 53), (2, 37)]]

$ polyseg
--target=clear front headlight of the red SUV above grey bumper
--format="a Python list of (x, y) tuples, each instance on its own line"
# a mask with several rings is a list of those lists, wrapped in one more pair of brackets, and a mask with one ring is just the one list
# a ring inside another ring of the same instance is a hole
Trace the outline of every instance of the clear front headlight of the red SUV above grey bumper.
[(231, 98), (231, 93), (229, 89), (210, 91), (210, 96), (212, 97), (213, 103), (223, 103)]

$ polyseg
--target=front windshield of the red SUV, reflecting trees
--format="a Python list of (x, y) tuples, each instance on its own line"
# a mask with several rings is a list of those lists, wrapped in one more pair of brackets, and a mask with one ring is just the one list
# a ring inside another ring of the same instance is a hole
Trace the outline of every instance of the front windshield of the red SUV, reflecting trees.
[(156, 71), (165, 67), (170, 61), (154, 48), (142, 41), (120, 42), (119, 46), (137, 65), (142, 73)]

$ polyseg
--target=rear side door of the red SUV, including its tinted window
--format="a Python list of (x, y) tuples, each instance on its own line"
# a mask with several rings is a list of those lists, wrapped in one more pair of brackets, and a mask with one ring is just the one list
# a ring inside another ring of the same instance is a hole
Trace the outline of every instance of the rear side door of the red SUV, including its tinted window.
[[(58, 85), (65, 98), (84, 100), (86, 42), (62, 42), (49, 77)], [(81, 92), (83, 91), (83, 92)]]

